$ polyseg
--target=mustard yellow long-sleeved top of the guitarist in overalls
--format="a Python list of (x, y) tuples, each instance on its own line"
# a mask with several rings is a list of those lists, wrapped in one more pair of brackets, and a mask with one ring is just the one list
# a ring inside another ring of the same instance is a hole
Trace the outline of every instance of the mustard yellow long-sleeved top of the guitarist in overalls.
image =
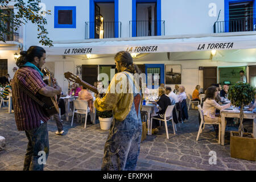
[[(139, 86), (131, 73), (126, 72), (131, 80), (133, 80), (137, 90)], [(103, 98), (96, 98), (94, 106), (98, 111), (113, 110), (114, 118), (118, 121), (123, 121), (131, 110), (133, 105), (133, 87), (128, 84), (128, 78), (125, 73), (120, 72), (115, 74), (108, 89), (106, 95)], [(130, 90), (130, 92), (129, 92)]]

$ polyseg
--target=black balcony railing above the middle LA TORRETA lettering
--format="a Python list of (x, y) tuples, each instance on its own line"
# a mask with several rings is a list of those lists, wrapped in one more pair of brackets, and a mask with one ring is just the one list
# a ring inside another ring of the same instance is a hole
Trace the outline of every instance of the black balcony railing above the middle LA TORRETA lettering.
[(164, 20), (139, 20), (130, 21), (130, 37), (131, 36), (157, 36), (165, 35), (165, 22)]

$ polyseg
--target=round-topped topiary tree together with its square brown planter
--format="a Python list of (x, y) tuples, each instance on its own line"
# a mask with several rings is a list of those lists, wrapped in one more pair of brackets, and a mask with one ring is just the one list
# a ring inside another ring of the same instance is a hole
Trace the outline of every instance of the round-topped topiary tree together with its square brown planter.
[(251, 133), (243, 133), (243, 106), (249, 105), (254, 98), (255, 89), (250, 84), (238, 82), (229, 89), (228, 99), (240, 109), (240, 126), (230, 131), (230, 155), (232, 158), (256, 160), (256, 139)]

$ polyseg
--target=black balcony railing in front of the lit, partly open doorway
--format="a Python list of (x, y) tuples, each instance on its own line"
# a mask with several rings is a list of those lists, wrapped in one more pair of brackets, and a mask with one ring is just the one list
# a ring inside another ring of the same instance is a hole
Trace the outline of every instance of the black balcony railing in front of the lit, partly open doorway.
[(103, 22), (103, 26), (96, 26), (95, 22), (85, 22), (85, 39), (121, 38), (121, 28), (121, 22)]

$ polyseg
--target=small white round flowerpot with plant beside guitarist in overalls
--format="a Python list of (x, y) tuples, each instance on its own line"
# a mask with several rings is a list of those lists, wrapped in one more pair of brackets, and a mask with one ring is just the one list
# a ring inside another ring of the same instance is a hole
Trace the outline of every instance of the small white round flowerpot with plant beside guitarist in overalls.
[(100, 121), (101, 130), (109, 130), (112, 120), (113, 120), (113, 112), (112, 110), (108, 111), (97, 111), (98, 120)]

